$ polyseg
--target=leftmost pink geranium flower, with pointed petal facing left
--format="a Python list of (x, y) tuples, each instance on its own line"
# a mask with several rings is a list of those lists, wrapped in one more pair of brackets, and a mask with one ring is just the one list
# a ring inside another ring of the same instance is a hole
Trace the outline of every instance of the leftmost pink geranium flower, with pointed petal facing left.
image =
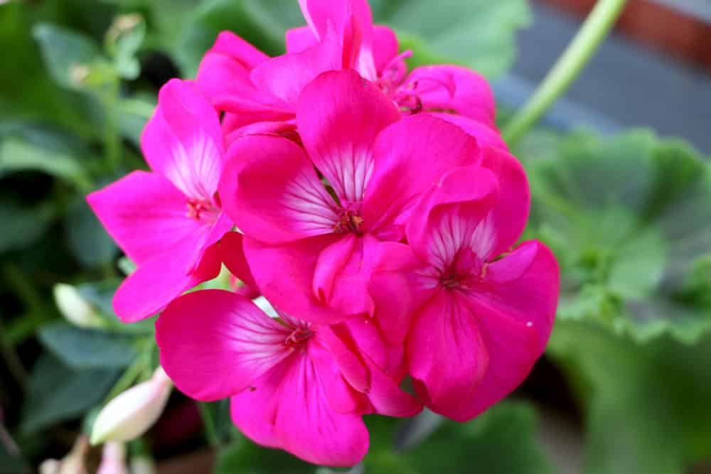
[(114, 296), (124, 322), (153, 316), (217, 276), (215, 242), (232, 227), (215, 194), (225, 156), (218, 114), (193, 83), (171, 80), (161, 88), (141, 147), (151, 172), (134, 171), (87, 196), (138, 265)]

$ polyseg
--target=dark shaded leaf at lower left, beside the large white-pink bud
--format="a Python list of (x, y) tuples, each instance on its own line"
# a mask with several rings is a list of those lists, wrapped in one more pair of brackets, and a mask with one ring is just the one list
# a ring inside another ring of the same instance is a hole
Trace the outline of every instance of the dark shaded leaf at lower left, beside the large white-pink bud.
[(109, 369), (73, 371), (54, 357), (41, 356), (32, 369), (21, 431), (31, 434), (80, 417), (101, 402), (118, 375), (119, 371)]

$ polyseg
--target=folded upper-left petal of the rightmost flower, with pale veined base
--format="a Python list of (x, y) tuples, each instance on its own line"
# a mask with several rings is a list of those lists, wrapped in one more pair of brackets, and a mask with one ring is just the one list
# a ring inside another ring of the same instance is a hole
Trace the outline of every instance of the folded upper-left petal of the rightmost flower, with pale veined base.
[(423, 262), (447, 269), (460, 249), (471, 247), (480, 222), (497, 202), (498, 181), (491, 171), (479, 166), (454, 168), (413, 208), (407, 242)]

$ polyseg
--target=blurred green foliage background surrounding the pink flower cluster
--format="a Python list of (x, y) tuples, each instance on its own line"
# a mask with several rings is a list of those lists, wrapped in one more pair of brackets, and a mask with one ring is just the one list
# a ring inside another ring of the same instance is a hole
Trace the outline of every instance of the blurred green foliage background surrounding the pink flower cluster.
[[(412, 65), (486, 75), (505, 129), (594, 1), (371, 5)], [(296, 0), (0, 0), (0, 474), (66, 456), (156, 364), (151, 322), (112, 312), (132, 265), (84, 196), (145, 168), (159, 87), (194, 77), (219, 31), (277, 55), (302, 23)], [(547, 354), (467, 424), (369, 417), (353, 472), (711, 473), (710, 71), (711, 1), (628, 2), (567, 95), (512, 144), (533, 191), (527, 237), (562, 268)], [(161, 474), (329, 472), (250, 443), (224, 403), (177, 392), (128, 456)]]

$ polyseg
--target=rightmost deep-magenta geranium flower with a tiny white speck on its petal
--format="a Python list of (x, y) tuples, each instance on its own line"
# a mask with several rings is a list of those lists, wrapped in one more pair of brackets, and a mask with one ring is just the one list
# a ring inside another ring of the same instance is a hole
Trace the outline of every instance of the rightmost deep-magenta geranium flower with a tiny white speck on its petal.
[(557, 306), (551, 252), (536, 241), (509, 251), (528, 216), (528, 186), (520, 166), (500, 162), (499, 179), (483, 167), (446, 173), (410, 212), (409, 245), (379, 244), (370, 281), (383, 333), (406, 339), (417, 394), (457, 421), (523, 382)]

